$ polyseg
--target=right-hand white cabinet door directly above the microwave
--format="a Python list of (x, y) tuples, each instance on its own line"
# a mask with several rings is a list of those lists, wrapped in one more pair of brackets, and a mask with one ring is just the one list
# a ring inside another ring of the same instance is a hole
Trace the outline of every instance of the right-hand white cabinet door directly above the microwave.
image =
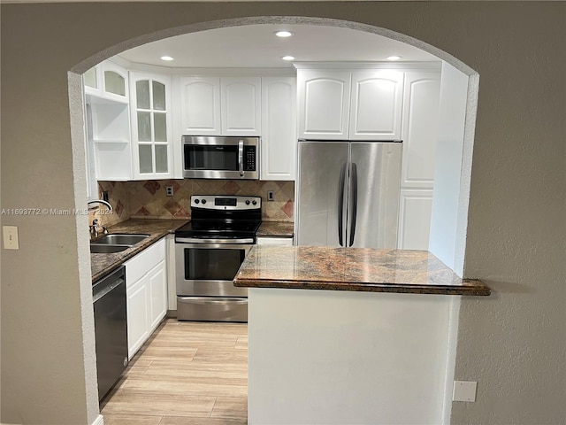
[(261, 135), (261, 78), (220, 79), (222, 135)]

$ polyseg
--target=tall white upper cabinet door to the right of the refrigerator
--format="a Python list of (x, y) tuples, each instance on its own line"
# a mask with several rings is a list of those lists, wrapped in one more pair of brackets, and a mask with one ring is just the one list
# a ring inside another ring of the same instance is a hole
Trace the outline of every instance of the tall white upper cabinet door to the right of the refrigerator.
[(440, 73), (405, 74), (402, 188), (432, 189), (438, 138)]

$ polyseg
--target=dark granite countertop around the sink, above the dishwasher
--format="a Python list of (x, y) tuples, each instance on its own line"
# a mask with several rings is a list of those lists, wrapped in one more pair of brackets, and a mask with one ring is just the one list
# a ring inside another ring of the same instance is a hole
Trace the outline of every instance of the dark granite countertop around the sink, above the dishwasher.
[[(130, 219), (108, 228), (108, 233), (142, 233), (149, 235), (141, 243), (136, 243), (125, 251), (112, 254), (90, 254), (92, 282), (120, 267), (127, 259), (145, 250), (149, 245), (173, 233), (186, 224), (187, 220)], [(101, 234), (99, 237), (102, 237)]]

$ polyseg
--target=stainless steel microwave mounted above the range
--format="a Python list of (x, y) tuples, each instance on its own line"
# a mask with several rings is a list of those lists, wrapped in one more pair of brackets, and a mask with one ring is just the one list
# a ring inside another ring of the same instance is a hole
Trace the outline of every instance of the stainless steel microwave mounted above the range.
[(259, 179), (259, 137), (183, 135), (183, 177)]

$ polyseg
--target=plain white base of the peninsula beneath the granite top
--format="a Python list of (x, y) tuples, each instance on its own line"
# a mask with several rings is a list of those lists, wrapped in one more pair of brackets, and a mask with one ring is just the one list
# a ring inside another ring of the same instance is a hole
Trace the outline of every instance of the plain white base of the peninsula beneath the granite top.
[(248, 423), (449, 423), (459, 303), (249, 288)]

